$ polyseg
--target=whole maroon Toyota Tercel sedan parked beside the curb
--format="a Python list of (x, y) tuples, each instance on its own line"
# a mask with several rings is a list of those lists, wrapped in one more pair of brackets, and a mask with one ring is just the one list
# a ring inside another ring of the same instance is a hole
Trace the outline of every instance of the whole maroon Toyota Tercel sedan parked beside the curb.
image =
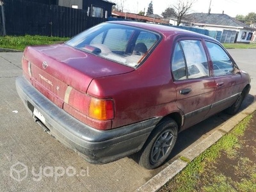
[(154, 169), (178, 132), (235, 114), (250, 76), (213, 38), (141, 22), (105, 22), (57, 45), (27, 47), (17, 92), (46, 132), (90, 163), (136, 153)]

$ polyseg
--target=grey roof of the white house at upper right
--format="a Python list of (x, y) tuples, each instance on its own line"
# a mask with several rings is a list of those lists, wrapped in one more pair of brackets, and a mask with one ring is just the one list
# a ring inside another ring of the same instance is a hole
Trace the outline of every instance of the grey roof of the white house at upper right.
[(194, 24), (252, 29), (247, 24), (221, 13), (191, 13), (186, 15), (186, 20)]

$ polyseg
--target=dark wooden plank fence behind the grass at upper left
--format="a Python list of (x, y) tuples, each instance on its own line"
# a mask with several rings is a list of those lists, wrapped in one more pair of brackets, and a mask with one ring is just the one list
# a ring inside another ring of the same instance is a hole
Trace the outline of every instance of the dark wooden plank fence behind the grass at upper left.
[(2, 1), (0, 35), (5, 35), (5, 32), (6, 35), (71, 37), (106, 21), (104, 18), (88, 17), (86, 10), (24, 0)]

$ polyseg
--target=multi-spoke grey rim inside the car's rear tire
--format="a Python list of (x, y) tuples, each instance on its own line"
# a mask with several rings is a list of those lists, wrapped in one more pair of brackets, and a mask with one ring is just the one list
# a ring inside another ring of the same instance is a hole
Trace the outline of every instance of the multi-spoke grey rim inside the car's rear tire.
[(166, 157), (169, 150), (171, 149), (173, 141), (173, 134), (170, 130), (164, 131), (156, 140), (153, 145), (152, 152), (151, 152), (151, 161), (152, 163), (158, 163)]

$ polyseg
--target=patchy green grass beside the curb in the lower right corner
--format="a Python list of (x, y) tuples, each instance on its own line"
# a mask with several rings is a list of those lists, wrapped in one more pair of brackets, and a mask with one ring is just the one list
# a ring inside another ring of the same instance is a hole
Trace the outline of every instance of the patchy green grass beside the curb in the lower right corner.
[[(182, 172), (165, 184), (159, 191), (196, 191), (195, 186), (199, 182), (200, 174), (206, 170), (210, 163), (214, 163), (216, 158), (220, 157), (221, 152), (225, 152), (227, 156), (230, 157), (234, 156), (236, 147), (239, 145), (238, 137), (243, 136), (246, 126), (251, 119), (252, 115), (248, 115), (244, 118), (244, 120), (237, 124), (232, 131), (225, 134), (214, 145), (191, 161)], [(223, 175), (217, 175), (215, 179), (219, 180), (219, 183), (215, 182), (216, 188), (213, 186), (211, 189), (214, 189), (214, 191), (223, 191), (218, 186), (220, 186), (221, 183), (227, 184), (227, 181), (223, 179)], [(205, 189), (205, 191), (208, 190)]]

